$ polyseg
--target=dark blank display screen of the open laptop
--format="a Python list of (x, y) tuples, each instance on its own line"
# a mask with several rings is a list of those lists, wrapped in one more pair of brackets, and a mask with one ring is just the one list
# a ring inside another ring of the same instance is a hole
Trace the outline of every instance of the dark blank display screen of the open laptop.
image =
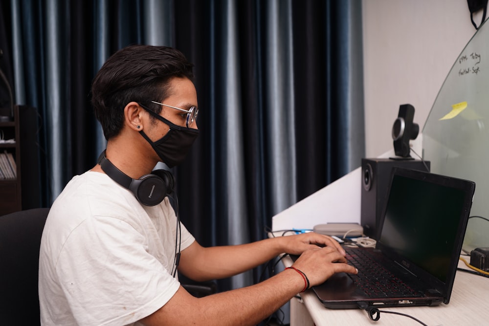
[(467, 192), (444, 183), (394, 174), (379, 242), (446, 283)]

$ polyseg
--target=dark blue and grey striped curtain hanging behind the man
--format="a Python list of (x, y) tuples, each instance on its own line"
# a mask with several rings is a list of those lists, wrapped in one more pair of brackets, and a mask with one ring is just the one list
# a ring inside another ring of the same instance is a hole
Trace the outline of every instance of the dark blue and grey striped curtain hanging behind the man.
[[(4, 0), (1, 9), (16, 103), (40, 116), (40, 206), (105, 148), (90, 83), (131, 43), (175, 46), (195, 64), (201, 132), (173, 172), (181, 219), (202, 245), (264, 239), (273, 215), (364, 156), (361, 0)], [(263, 269), (220, 289), (258, 282)]]

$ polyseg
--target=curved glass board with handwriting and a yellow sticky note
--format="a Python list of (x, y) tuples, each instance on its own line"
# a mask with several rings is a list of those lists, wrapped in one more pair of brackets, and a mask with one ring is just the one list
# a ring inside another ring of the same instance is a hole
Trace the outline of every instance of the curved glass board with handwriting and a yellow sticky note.
[(483, 219), (489, 219), (488, 128), (489, 23), (484, 23), (455, 60), (422, 130), (422, 156), (432, 173), (476, 183), (466, 251), (489, 247), (489, 221)]

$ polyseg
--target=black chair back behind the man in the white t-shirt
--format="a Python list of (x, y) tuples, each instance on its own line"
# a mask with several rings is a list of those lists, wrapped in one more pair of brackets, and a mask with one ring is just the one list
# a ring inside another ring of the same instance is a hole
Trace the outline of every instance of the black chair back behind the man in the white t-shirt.
[(40, 325), (39, 248), (49, 208), (0, 217), (0, 324)]

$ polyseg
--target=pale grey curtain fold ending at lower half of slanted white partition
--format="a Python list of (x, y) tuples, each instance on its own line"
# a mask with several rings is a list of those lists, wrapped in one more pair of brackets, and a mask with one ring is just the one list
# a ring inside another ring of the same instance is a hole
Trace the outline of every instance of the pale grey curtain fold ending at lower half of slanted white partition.
[[(262, 2), (263, 3), (263, 2)], [(265, 162), (268, 166), (269, 214), (275, 215), (296, 202), (293, 91), (293, 38), (291, 1), (267, 1), (264, 42), (260, 50), (266, 67), (264, 111), (266, 114)]]

